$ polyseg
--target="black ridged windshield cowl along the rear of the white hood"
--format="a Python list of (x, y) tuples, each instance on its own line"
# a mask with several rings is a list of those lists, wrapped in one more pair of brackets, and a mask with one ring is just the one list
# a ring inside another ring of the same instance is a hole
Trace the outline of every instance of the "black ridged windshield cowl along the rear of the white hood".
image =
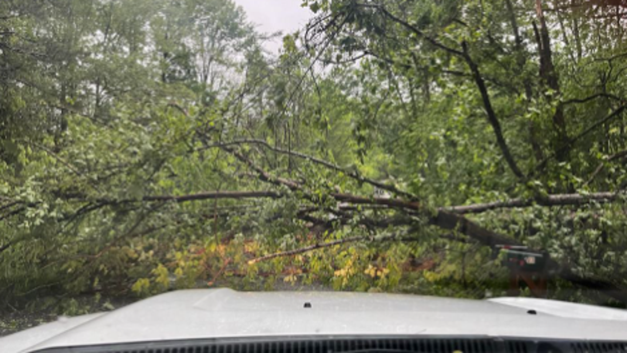
[(621, 353), (626, 341), (508, 337), (304, 336), (136, 342), (37, 353)]

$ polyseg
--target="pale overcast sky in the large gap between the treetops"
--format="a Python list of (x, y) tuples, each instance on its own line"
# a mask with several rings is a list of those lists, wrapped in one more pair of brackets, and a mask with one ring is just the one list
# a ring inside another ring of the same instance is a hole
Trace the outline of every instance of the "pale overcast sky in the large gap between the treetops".
[[(307, 23), (312, 16), (307, 8), (301, 8), (301, 0), (233, 0), (240, 5), (248, 20), (258, 25), (257, 29), (264, 33), (282, 31), (292, 33)], [(281, 46), (281, 38), (267, 43), (266, 48), (277, 52)]]

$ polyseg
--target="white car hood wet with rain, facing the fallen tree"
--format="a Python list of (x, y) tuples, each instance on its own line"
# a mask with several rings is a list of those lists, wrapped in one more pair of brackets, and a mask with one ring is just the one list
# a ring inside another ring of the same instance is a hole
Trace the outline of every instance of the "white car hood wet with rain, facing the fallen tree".
[[(311, 307), (305, 308), (305, 303)], [(4, 337), (0, 352), (288, 335), (622, 340), (627, 336), (627, 311), (529, 298), (464, 300), (382, 293), (185, 290)]]

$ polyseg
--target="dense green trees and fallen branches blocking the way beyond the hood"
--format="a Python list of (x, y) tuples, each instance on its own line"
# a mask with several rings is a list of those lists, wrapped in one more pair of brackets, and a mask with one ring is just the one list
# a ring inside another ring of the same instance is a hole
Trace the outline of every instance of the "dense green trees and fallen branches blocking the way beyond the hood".
[[(297, 0), (295, 0), (297, 1)], [(627, 9), (0, 3), (0, 297), (277, 282), (627, 303)], [(605, 293), (602, 295), (601, 293)]]

